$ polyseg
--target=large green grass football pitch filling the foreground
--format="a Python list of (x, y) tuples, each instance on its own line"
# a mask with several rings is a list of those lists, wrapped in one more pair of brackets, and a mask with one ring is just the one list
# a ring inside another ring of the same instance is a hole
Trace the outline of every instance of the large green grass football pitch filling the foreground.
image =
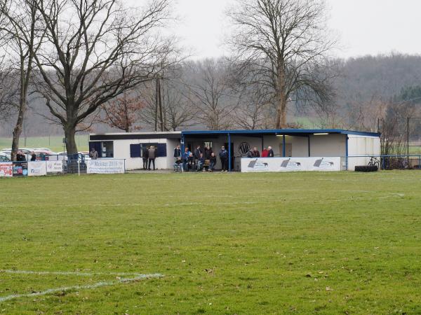
[[(420, 314), (421, 172), (0, 179), (0, 269), (165, 274), (1, 314)], [(0, 272), (0, 297), (114, 276)]]

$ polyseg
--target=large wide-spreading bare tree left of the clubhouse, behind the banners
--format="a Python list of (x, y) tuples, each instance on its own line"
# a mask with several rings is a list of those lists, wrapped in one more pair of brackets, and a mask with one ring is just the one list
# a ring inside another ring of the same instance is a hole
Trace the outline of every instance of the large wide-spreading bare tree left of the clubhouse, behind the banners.
[(171, 59), (171, 42), (156, 36), (169, 1), (135, 10), (123, 0), (36, 0), (36, 8), (47, 39), (34, 54), (36, 90), (63, 126), (67, 153), (74, 154), (77, 125)]

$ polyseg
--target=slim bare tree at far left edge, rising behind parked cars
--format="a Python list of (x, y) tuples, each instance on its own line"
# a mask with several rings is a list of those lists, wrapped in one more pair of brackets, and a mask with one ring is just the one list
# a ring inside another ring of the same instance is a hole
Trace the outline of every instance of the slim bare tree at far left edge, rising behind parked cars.
[(13, 129), (12, 160), (16, 160), (20, 134), (27, 110), (27, 98), (34, 66), (34, 54), (42, 42), (44, 29), (39, 23), (35, 0), (0, 0), (0, 34), (6, 40), (9, 59), (19, 77), (18, 97), (15, 100), (18, 118)]

